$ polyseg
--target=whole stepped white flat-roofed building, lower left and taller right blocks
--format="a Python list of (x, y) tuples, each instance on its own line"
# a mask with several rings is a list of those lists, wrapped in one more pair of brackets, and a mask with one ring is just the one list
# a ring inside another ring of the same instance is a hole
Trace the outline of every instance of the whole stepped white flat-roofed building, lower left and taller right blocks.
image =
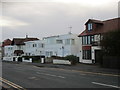
[(42, 40), (25, 42), (26, 56), (79, 56), (79, 38), (76, 34), (44, 37)]

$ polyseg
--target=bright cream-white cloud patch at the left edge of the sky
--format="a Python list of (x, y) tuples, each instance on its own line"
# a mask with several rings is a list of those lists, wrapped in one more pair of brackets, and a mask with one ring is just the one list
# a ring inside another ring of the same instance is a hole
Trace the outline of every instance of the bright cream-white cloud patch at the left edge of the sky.
[(23, 22), (21, 20), (11, 18), (11, 17), (0, 16), (0, 26), (1, 27), (16, 28), (16, 27), (26, 26), (26, 25), (29, 25), (29, 24), (26, 22)]

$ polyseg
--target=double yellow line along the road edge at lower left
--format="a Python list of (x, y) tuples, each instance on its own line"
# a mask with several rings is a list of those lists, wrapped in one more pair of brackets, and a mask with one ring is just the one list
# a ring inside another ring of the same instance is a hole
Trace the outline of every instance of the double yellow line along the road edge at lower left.
[[(17, 90), (26, 90), (26, 89), (24, 89), (23, 87), (15, 84), (15, 83), (13, 83), (13, 82), (11, 82), (11, 81), (8, 81), (8, 80), (6, 80), (6, 79), (3, 79), (2, 77), (0, 77), (0, 81), (2, 81), (3, 83), (5, 83), (5, 84), (7, 84), (7, 85), (9, 85), (9, 86), (17, 89)], [(2, 86), (3, 86), (3, 85), (2, 85)]]

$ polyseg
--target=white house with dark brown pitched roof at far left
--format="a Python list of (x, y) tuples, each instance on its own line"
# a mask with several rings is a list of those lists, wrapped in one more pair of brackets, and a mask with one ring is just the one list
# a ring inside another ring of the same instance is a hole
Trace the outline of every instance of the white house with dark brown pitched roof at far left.
[(11, 45), (4, 46), (3, 60), (18, 61), (18, 57), (22, 57), (25, 54), (26, 46), (25, 42), (39, 40), (37, 38), (14, 38)]

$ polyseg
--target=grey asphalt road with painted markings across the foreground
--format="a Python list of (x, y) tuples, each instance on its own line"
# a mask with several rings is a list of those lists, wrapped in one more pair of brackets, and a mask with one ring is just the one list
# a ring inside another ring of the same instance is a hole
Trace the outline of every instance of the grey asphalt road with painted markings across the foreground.
[(119, 88), (118, 76), (5, 62), (2, 78), (23, 88)]

